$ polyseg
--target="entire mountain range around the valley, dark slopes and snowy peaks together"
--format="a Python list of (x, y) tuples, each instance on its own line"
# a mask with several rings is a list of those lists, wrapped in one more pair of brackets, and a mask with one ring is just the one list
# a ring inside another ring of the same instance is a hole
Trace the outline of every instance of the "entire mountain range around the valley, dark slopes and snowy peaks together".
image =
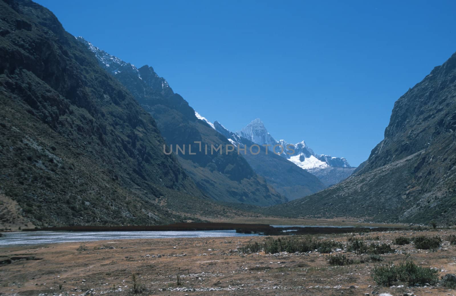
[(238, 132), (209, 122), (152, 67), (72, 36), (30, 0), (0, 1), (0, 56), (1, 227), (254, 214), (246, 209), (456, 223), (456, 54), (395, 102), (358, 168), (277, 141), (259, 119)]

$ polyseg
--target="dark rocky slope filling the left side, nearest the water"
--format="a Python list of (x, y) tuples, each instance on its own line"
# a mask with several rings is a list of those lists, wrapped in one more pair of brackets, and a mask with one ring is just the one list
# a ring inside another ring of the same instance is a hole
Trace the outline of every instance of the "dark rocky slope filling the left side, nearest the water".
[(2, 228), (154, 225), (226, 210), (163, 153), (135, 97), (28, 0), (0, 1), (0, 102)]

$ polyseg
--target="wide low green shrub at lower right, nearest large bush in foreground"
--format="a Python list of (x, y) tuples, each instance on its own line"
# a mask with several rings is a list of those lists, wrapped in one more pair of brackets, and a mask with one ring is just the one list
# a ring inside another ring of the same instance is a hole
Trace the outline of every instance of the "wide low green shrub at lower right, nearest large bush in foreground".
[(383, 286), (392, 286), (397, 282), (407, 283), (408, 286), (423, 286), (439, 281), (438, 270), (420, 267), (412, 261), (406, 261), (399, 266), (376, 266), (372, 277), (378, 285)]

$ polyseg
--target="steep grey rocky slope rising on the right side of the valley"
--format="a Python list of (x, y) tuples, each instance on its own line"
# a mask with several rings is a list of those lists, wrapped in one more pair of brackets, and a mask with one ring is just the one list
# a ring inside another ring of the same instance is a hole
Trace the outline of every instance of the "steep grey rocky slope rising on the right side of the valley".
[(345, 181), (271, 213), (456, 223), (456, 54), (394, 103), (382, 142)]

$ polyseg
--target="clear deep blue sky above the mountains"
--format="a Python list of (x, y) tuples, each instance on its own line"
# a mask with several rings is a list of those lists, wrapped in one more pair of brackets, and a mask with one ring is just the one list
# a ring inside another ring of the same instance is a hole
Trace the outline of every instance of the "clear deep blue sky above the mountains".
[(456, 51), (456, 1), (38, 0), (65, 29), (153, 66), (210, 121), (357, 166), (394, 101)]

